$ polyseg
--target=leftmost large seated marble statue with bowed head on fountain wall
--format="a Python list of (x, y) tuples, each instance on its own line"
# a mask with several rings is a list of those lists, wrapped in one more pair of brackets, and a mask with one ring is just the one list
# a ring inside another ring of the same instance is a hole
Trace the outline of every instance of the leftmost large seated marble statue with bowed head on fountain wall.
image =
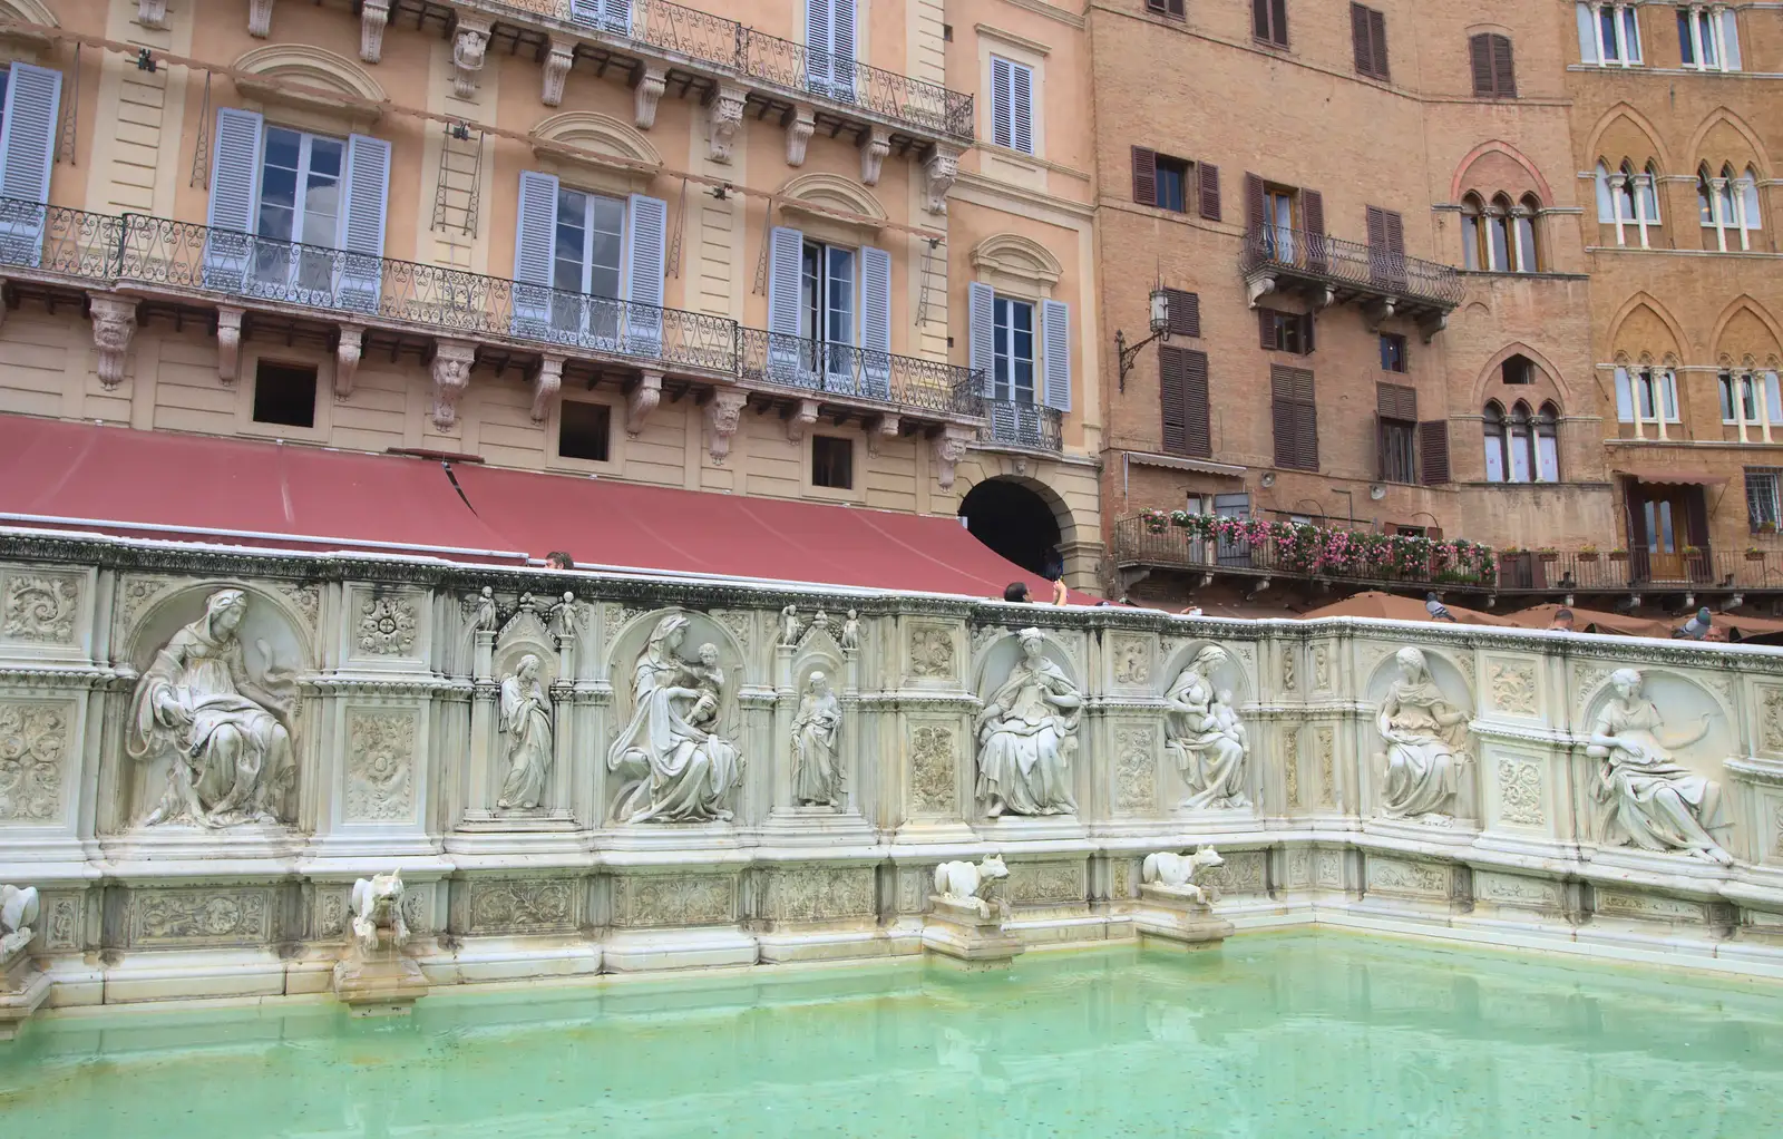
[(168, 790), (144, 825), (283, 822), (278, 809), (294, 775), (296, 693), (264, 642), (266, 672), (255, 677), (248, 670), (237, 640), (246, 611), (242, 590), (210, 594), (203, 617), (175, 633), (136, 684), (125, 752), (132, 759), (171, 759)]

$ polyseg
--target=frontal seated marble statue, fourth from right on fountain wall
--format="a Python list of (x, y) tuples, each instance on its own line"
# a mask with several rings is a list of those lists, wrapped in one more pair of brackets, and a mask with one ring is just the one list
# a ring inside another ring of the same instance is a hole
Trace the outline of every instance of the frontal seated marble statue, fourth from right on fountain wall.
[(1039, 629), (1022, 629), (1022, 658), (979, 713), (979, 799), (1000, 815), (1072, 815), (1072, 752), (1084, 697), (1047, 660)]

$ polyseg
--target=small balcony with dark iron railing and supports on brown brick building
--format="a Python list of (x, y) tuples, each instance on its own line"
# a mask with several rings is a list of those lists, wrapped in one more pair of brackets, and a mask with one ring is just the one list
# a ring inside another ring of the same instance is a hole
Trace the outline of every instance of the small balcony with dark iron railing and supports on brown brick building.
[(1426, 342), (1467, 294), (1453, 266), (1280, 226), (1245, 235), (1239, 271), (1252, 307), (1271, 292), (1298, 292), (1314, 308), (1353, 301), (1371, 326), (1393, 315), (1416, 321)]

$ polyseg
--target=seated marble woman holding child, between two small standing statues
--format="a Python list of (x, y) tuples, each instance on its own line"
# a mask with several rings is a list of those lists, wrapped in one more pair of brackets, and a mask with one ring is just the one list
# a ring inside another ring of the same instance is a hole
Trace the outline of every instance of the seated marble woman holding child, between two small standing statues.
[(729, 820), (724, 800), (736, 788), (742, 759), (717, 734), (722, 672), (715, 645), (701, 645), (701, 663), (678, 652), (688, 619), (656, 622), (633, 668), (631, 722), (606, 754), (610, 772), (628, 779), (613, 816), (642, 822)]

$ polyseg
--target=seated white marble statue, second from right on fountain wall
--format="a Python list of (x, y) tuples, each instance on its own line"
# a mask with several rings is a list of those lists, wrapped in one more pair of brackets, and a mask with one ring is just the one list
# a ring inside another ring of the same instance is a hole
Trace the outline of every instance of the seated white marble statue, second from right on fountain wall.
[(1455, 790), (1467, 763), (1467, 713), (1455, 708), (1430, 679), (1430, 663), (1417, 649), (1400, 649), (1394, 656), (1400, 679), (1380, 702), (1375, 727), (1387, 742), (1384, 763), (1387, 784), (1380, 807), (1387, 818), (1421, 818), (1448, 824), (1455, 809)]

